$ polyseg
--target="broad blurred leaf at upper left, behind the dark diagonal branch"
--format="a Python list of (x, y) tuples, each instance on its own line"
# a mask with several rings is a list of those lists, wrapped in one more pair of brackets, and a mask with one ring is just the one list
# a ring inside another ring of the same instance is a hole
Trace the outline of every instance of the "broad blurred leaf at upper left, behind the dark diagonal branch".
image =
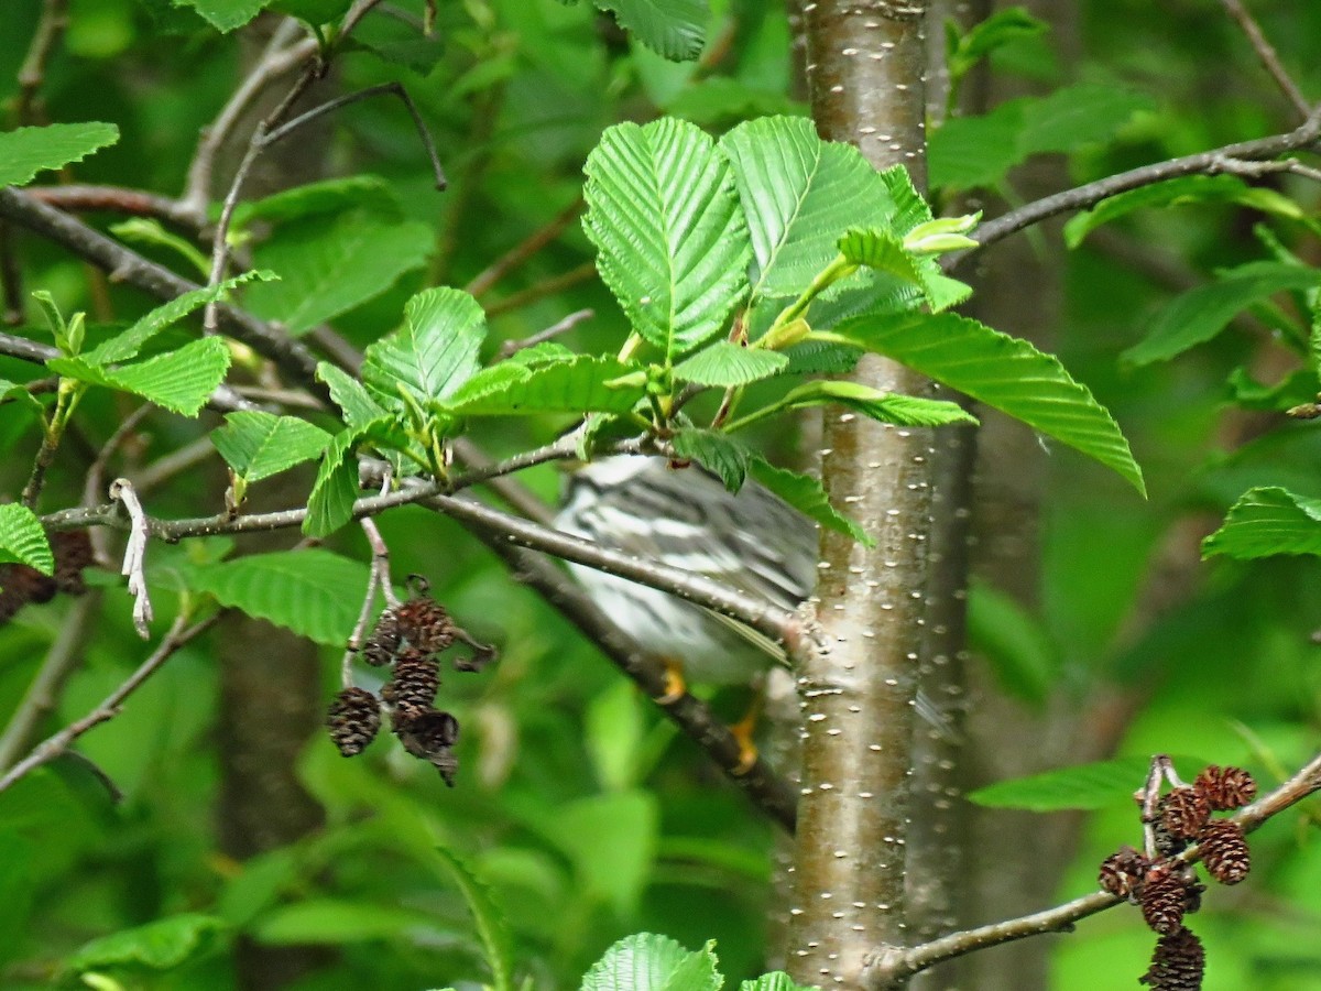
[(284, 223), (254, 256), (280, 281), (256, 285), (247, 305), (303, 334), (386, 292), (421, 268), (435, 247), (429, 226), (369, 210), (321, 213)]

